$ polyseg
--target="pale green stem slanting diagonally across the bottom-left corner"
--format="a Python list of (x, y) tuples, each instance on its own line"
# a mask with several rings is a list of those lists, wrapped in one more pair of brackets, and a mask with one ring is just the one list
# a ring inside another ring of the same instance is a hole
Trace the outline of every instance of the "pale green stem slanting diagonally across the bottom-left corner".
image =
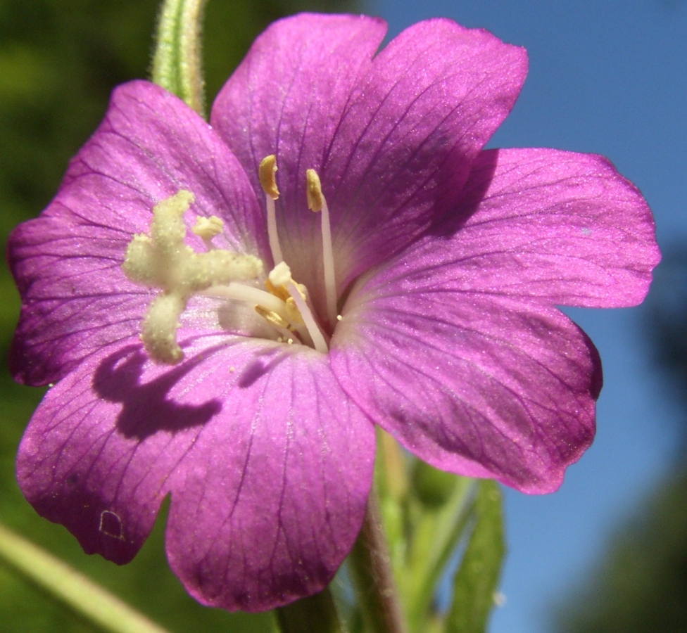
[(112, 633), (166, 633), (87, 577), (2, 525), (0, 561), (101, 629)]

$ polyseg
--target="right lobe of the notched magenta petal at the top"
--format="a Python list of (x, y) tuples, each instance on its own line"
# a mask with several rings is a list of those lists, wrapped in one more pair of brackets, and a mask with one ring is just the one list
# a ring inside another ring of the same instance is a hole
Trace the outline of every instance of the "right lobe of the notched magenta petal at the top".
[(526, 75), (524, 49), (451, 20), (413, 25), (374, 58), (320, 174), (346, 281), (454, 207)]

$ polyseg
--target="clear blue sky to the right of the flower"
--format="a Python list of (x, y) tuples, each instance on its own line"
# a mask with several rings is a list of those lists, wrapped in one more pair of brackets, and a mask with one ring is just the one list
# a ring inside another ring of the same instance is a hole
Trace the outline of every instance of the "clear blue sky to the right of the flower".
[[(687, 243), (687, 3), (368, 0), (365, 11), (391, 36), (443, 16), (525, 46), (527, 82), (491, 146), (606, 155), (648, 200), (662, 248)], [(581, 587), (675, 454), (681, 413), (652, 360), (645, 309), (568, 312), (603, 359), (598, 433), (559, 492), (506, 491), (506, 601), (492, 633), (551, 630), (551, 609)]]

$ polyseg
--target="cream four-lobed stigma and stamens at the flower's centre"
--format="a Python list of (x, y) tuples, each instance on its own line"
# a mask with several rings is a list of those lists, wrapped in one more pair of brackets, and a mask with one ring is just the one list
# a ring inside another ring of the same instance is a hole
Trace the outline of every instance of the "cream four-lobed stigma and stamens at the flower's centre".
[[(267, 156), (258, 168), (260, 185), (267, 206), (267, 234), (275, 267), (264, 279), (263, 262), (253, 255), (242, 255), (215, 248), (213, 237), (224, 224), (218, 217), (198, 217), (191, 229), (206, 245), (206, 252), (196, 252), (186, 243), (182, 219), (194, 196), (182, 189), (153, 207), (150, 234), (137, 234), (129, 243), (122, 271), (128, 279), (160, 293), (151, 301), (141, 322), (141, 340), (151, 359), (175, 364), (183, 358), (177, 343), (179, 318), (193, 295), (241, 302), (253, 307), (269, 325), (280, 343), (296, 343), (327, 352), (329, 337), (320, 326), (317, 313), (308, 298), (308, 289), (291, 276), (284, 262), (277, 234), (275, 200), (279, 190), (274, 155)], [(306, 172), (308, 207), (320, 212), (324, 288), (327, 319), (336, 324), (336, 281), (329, 209), (315, 170)], [(240, 283), (264, 279), (265, 290)]]

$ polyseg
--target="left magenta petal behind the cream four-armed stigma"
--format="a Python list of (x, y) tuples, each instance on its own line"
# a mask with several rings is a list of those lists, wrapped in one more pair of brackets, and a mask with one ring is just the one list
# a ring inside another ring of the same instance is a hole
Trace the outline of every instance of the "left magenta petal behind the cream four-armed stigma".
[[(84, 357), (138, 331), (150, 294), (120, 269), (146, 233), (153, 206), (188, 189), (185, 221), (218, 215), (218, 246), (267, 252), (264, 219), (236, 158), (182, 101), (148, 82), (116, 89), (94, 136), (70, 163), (41, 217), (10, 236), (8, 260), (22, 295), (11, 352), (15, 379), (45, 384)], [(189, 243), (204, 250), (200, 238)]]

